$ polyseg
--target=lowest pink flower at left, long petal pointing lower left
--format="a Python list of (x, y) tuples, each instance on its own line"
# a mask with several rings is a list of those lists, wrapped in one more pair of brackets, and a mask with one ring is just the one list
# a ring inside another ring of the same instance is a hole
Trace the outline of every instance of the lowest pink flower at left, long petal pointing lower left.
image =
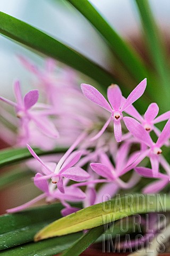
[(55, 190), (50, 190), (50, 184), (48, 184), (47, 180), (40, 180), (40, 178), (42, 176), (43, 176), (42, 174), (37, 173), (34, 178), (34, 183), (35, 183), (35, 186), (38, 187), (44, 193), (23, 205), (14, 207), (12, 209), (8, 209), (7, 210), (8, 213), (22, 211), (22, 210), (26, 209), (27, 207), (31, 206), (32, 204), (40, 201), (43, 198), (47, 198), (48, 201), (49, 201), (49, 199), (50, 199), (50, 201), (52, 201), (52, 200), (54, 201), (54, 200), (58, 199), (64, 206), (66, 206), (62, 210), (63, 215), (67, 215), (67, 214), (70, 214), (72, 212), (79, 210), (79, 208), (77, 208), (77, 207), (71, 207), (65, 201), (69, 201), (69, 202), (83, 201), (84, 198), (86, 198), (86, 195), (83, 193), (83, 191), (81, 189), (72, 187), (72, 186), (67, 186), (67, 187), (65, 187), (65, 194), (61, 193), (61, 191), (58, 190), (57, 188)]

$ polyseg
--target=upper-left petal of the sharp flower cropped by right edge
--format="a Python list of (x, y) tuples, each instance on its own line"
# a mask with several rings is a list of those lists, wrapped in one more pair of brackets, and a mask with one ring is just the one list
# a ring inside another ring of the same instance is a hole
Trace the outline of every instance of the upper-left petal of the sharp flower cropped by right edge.
[(139, 139), (141, 142), (144, 142), (147, 146), (151, 147), (153, 145), (150, 135), (138, 121), (132, 117), (126, 116), (123, 119), (127, 129), (135, 138)]

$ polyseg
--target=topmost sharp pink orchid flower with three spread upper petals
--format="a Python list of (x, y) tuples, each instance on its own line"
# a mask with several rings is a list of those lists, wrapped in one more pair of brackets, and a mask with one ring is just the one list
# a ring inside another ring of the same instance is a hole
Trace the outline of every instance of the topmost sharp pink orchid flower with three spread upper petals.
[(110, 105), (104, 96), (97, 89), (95, 89), (95, 87), (89, 84), (81, 84), (81, 90), (87, 99), (91, 100), (92, 102), (96, 103), (111, 113), (111, 116), (104, 124), (103, 128), (99, 131), (99, 133), (93, 138), (93, 140), (99, 138), (100, 135), (104, 133), (111, 120), (114, 122), (114, 134), (116, 141), (120, 142), (122, 140), (122, 112), (126, 111), (126, 109), (132, 106), (134, 101), (141, 97), (146, 89), (146, 85), (147, 79), (145, 78), (142, 82), (140, 82), (140, 84), (138, 84), (137, 87), (135, 87), (135, 89), (129, 94), (126, 100), (122, 96), (122, 92), (118, 85), (109, 86), (107, 89), (107, 98), (111, 104)]

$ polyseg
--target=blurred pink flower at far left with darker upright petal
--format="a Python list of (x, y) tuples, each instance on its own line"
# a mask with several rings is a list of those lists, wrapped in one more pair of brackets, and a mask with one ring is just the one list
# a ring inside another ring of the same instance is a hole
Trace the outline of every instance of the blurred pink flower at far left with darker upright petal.
[[(36, 111), (32, 111), (32, 107), (38, 101), (39, 93), (38, 90), (31, 90), (27, 94), (25, 94), (24, 98), (21, 94), (20, 83), (16, 81), (14, 83), (14, 94), (16, 98), (16, 103), (5, 99), (4, 97), (0, 97), (0, 100), (8, 103), (13, 106), (16, 111), (16, 116), (21, 119), (21, 126), (26, 131), (26, 135), (28, 135), (28, 123), (29, 121), (33, 121), (36, 126), (47, 136), (52, 138), (58, 138), (59, 134), (55, 128), (55, 125), (48, 120), (46, 116), (41, 116), (43, 112), (36, 113)], [(44, 105), (45, 106), (45, 105)]]

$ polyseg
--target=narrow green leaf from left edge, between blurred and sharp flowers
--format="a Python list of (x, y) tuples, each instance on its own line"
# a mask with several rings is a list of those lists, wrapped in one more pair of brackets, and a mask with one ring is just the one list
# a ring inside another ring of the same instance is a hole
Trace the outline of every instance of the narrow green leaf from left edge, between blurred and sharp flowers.
[[(36, 154), (39, 156), (50, 155), (56, 153), (65, 153), (67, 148), (55, 148), (54, 150), (43, 151), (38, 148), (33, 148)], [(19, 163), (21, 161), (31, 158), (28, 148), (7, 148), (0, 150), (0, 167), (7, 166), (10, 164)]]

